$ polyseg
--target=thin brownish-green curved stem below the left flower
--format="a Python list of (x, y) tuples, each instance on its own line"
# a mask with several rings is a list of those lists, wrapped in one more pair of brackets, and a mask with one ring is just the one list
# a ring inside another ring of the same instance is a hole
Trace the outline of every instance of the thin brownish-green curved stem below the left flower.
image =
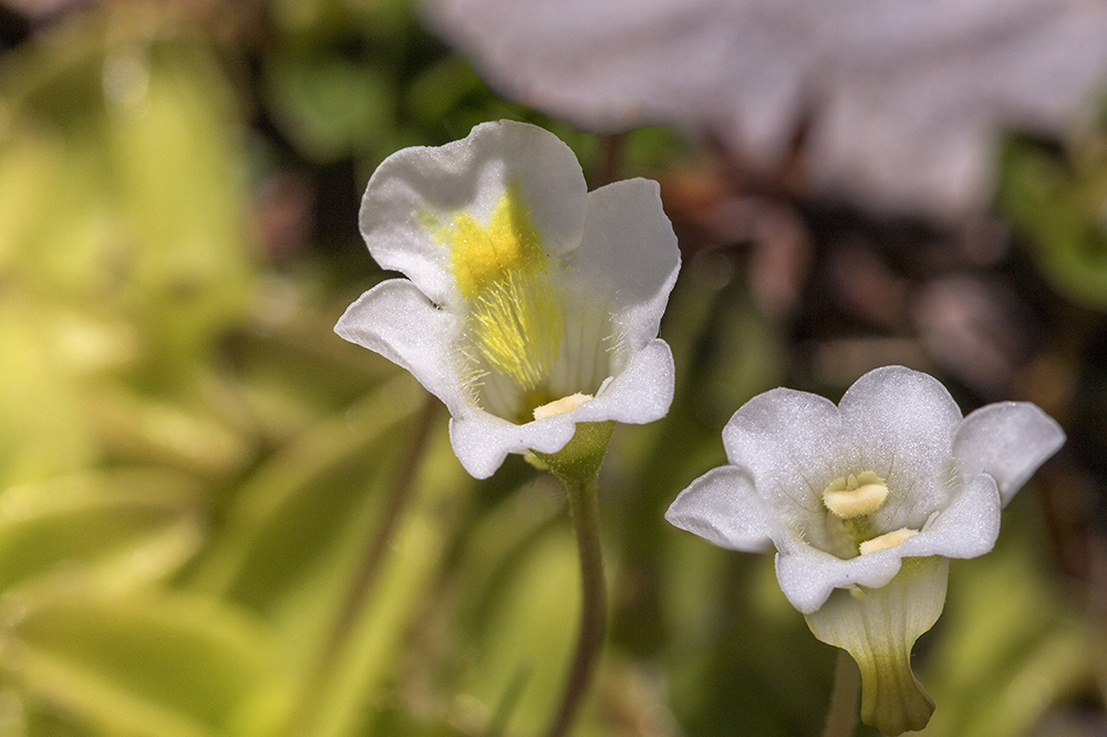
[(563, 735), (569, 734), (573, 719), (591, 685), (600, 648), (603, 645), (603, 631), (607, 623), (596, 478), (582, 484), (568, 479), (562, 479), (562, 481), (569, 499), (569, 515), (577, 531), (582, 600), (577, 651), (573, 654), (561, 702), (554, 714), (549, 729), (546, 731), (547, 737), (563, 737)]

